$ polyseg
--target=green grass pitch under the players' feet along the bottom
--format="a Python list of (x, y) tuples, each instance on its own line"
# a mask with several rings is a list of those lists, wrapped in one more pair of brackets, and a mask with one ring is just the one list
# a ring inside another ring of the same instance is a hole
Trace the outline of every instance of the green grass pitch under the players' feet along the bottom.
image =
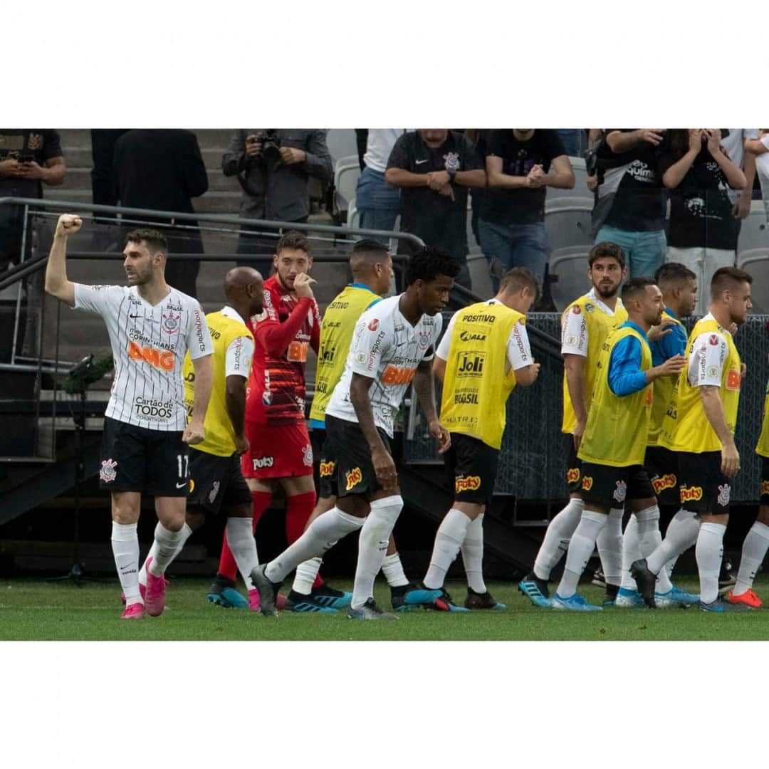
[[(250, 611), (225, 610), (205, 600), (208, 581), (177, 578), (168, 588), (168, 608), (159, 618), (121, 621), (117, 581), (72, 584), (0, 581), (0, 639), (18, 641), (758, 641), (769, 639), (769, 613), (706, 614), (696, 608), (648, 611), (607, 608), (572, 613), (534, 608), (511, 583), (490, 583), (506, 611), (448, 614), (409, 611), (397, 622), (351, 621), (344, 613), (291, 614), (265, 618)], [(331, 581), (336, 587), (350, 584)], [(696, 591), (695, 578), (679, 587)], [(457, 601), (464, 584), (448, 584)], [(769, 600), (769, 577), (756, 591)], [(602, 591), (581, 585), (592, 603)], [(383, 581), (376, 598), (389, 608)]]

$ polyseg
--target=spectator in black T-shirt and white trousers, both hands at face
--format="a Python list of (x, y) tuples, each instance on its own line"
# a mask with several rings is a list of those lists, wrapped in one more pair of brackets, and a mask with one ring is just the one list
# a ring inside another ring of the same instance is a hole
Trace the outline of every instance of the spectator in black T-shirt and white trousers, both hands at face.
[[(721, 148), (718, 128), (674, 128), (661, 150), (659, 173), (671, 190), (670, 247), (667, 261), (678, 261), (711, 285), (721, 267), (734, 267), (737, 231), (728, 190), (741, 190), (745, 175)], [(694, 315), (707, 311), (707, 291)]]

